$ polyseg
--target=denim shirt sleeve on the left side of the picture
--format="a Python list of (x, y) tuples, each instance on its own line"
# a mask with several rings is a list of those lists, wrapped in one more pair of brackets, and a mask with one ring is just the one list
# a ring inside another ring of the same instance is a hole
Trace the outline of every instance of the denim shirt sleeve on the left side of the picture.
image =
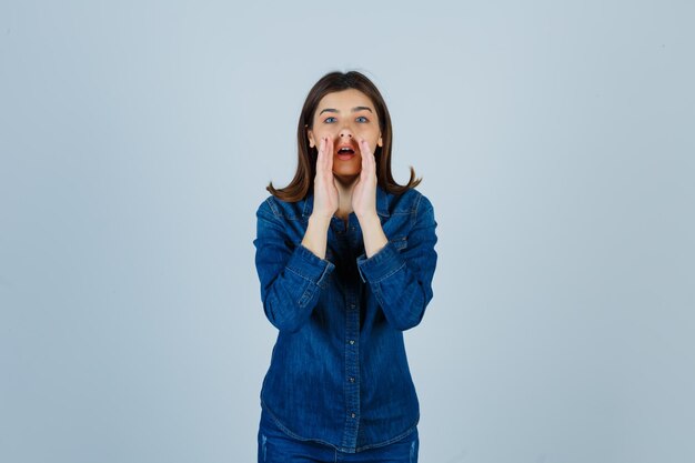
[(268, 320), (281, 331), (299, 331), (315, 308), (335, 265), (303, 245), (294, 245), (284, 219), (269, 201), (256, 212), (255, 269)]

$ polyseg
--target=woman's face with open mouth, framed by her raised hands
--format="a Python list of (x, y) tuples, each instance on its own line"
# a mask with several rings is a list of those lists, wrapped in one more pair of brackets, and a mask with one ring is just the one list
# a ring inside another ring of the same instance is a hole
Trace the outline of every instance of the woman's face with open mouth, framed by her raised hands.
[(355, 89), (323, 97), (306, 134), (312, 148), (319, 147), (324, 137), (333, 142), (333, 174), (345, 182), (362, 170), (360, 140), (365, 140), (372, 152), (382, 145), (376, 109), (367, 95)]

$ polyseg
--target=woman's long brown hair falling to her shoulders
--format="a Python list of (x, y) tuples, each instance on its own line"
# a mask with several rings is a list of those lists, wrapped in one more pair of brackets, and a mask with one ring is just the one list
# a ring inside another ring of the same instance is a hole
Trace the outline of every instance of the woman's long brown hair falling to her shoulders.
[(379, 128), (383, 147), (376, 147), (374, 155), (376, 158), (376, 181), (379, 187), (392, 194), (401, 194), (411, 188), (417, 187), (422, 179), (415, 178), (415, 170), (411, 167), (411, 177), (407, 184), (401, 185), (396, 183), (391, 173), (391, 139), (393, 130), (391, 128), (391, 115), (386, 108), (386, 102), (364, 74), (357, 71), (350, 72), (330, 72), (322, 77), (314, 87), (309, 91), (302, 113), (300, 114), (296, 128), (298, 143), (298, 164), (294, 179), (289, 185), (282, 189), (275, 189), (270, 182), (266, 190), (275, 198), (286, 201), (301, 201), (313, 191), (314, 177), (316, 177), (316, 158), (318, 149), (309, 145), (306, 135), (308, 129), (313, 129), (314, 112), (319, 107), (319, 102), (328, 93), (339, 92), (342, 90), (355, 89), (364, 93), (372, 100), (379, 117)]

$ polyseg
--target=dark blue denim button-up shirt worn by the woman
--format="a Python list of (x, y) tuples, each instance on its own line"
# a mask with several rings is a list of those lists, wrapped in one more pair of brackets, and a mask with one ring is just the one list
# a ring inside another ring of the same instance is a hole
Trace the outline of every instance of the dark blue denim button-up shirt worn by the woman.
[(403, 331), (422, 320), (436, 265), (434, 211), (416, 190), (376, 191), (387, 244), (366, 259), (360, 223), (333, 218), (325, 260), (301, 242), (313, 197), (259, 208), (255, 266), (279, 334), (261, 404), (289, 435), (342, 452), (411, 433), (420, 411)]

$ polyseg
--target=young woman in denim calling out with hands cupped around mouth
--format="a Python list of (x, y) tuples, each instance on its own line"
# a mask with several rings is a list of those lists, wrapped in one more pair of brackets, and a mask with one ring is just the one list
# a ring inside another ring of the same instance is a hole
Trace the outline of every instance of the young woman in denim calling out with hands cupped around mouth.
[(391, 118), (359, 72), (311, 89), (299, 164), (259, 208), (255, 266), (279, 335), (261, 392), (259, 462), (416, 462), (403, 331), (436, 265), (434, 212), (391, 173)]

